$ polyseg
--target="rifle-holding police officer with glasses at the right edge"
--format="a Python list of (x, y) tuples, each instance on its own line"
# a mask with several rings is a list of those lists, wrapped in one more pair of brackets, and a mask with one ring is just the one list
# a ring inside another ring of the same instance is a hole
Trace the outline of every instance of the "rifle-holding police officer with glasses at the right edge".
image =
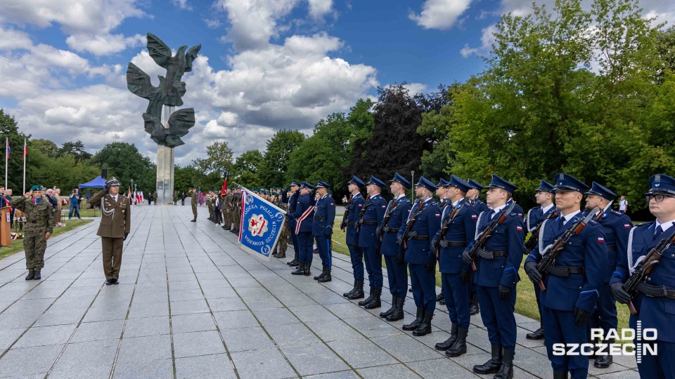
[[(662, 239), (675, 233), (675, 178), (656, 174), (649, 180), (650, 190), (645, 195), (649, 211), (656, 220), (644, 222), (631, 229), (626, 251), (619, 251), (619, 265), (612, 273), (610, 291), (617, 301), (626, 304), (630, 295), (622, 285), (633, 273), (636, 262), (657, 246)], [(657, 349), (657, 354), (642, 354), (638, 362), (641, 378), (675, 378), (675, 245), (669, 246), (659, 258), (647, 281), (638, 287), (633, 305), (638, 314), (631, 314), (629, 325), (636, 330), (641, 321), (642, 330), (655, 328), (656, 340), (643, 342)]]

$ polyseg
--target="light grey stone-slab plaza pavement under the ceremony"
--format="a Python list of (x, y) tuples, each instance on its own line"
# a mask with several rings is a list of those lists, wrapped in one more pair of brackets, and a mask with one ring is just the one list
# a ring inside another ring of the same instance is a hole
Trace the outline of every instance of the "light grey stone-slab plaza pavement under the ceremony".
[[(438, 306), (433, 332), (402, 331), (342, 297), (349, 257), (335, 254), (333, 281), (290, 274), (287, 260), (263, 262), (234, 234), (189, 206), (134, 206), (120, 284), (105, 286), (98, 220), (49, 240), (41, 281), (25, 281), (23, 252), (0, 260), (0, 378), (491, 378), (471, 367), (489, 359), (480, 314), (468, 352), (446, 358)], [(289, 248), (290, 260), (293, 253)], [(314, 255), (312, 276), (321, 272)], [(385, 270), (386, 276), (386, 270)], [(385, 279), (385, 286), (387, 280)], [(439, 288), (437, 288), (439, 291)], [(390, 300), (383, 291), (383, 300)], [(551, 378), (538, 322), (516, 314), (515, 378)], [(615, 357), (597, 378), (638, 378), (634, 357)]]

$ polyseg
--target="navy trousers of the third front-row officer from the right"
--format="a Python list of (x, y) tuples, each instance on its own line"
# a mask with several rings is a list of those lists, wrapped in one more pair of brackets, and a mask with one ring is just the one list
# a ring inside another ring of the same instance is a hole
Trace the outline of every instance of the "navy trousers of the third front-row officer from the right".
[[(487, 328), (487, 336), (492, 345), (502, 345), (504, 349), (515, 350), (515, 287), (511, 288), (511, 297), (499, 298), (497, 287), (477, 286), (480, 318)], [(584, 329), (585, 330), (585, 329)], [(548, 338), (548, 328), (546, 329)], [(588, 364), (588, 358), (586, 358)]]

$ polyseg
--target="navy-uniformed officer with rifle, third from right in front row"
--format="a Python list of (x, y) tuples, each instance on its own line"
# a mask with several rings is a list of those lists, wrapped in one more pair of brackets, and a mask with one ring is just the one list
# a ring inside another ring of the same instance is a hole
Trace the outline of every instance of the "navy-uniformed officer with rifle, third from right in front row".
[[(513, 192), (518, 189), (513, 183), (497, 175), (492, 175), (488, 188), (487, 204), (491, 209), (480, 213), (476, 235), (480, 234), (493, 218), (500, 217), (507, 204), (513, 201), (511, 199)], [(473, 244), (475, 240), (462, 255), (465, 264), (471, 263), (469, 251)], [(525, 225), (522, 222), (522, 215), (511, 212), (506, 220), (496, 227), (475, 261), (480, 315), (484, 326), (487, 327), (492, 358), (482, 365), (473, 366), (473, 371), (480, 374), (496, 373), (495, 379), (513, 378), (516, 338), (513, 312), (524, 244)]]

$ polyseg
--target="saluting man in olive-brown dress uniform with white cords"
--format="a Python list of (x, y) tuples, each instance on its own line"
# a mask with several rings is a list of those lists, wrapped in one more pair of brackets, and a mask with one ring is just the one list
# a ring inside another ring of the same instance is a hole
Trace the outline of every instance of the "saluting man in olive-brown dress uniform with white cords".
[(101, 201), (101, 224), (96, 235), (103, 247), (105, 285), (117, 284), (122, 266), (122, 244), (131, 227), (131, 202), (120, 194), (120, 182), (113, 178), (105, 182), (103, 191), (89, 199), (91, 204)]

